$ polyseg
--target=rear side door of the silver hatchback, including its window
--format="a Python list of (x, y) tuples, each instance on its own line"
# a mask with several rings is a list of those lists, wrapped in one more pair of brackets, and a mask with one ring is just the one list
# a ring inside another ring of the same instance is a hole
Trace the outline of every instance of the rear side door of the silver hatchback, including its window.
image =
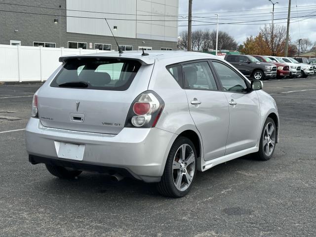
[(189, 111), (202, 137), (205, 160), (224, 156), (229, 128), (228, 102), (209, 65), (207, 60), (182, 64)]

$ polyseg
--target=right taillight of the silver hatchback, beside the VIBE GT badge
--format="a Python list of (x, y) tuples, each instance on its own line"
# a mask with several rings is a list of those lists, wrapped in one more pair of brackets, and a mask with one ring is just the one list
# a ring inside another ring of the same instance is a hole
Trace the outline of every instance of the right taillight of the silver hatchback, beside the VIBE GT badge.
[(156, 92), (148, 90), (141, 93), (129, 109), (125, 127), (155, 127), (163, 107), (164, 102)]

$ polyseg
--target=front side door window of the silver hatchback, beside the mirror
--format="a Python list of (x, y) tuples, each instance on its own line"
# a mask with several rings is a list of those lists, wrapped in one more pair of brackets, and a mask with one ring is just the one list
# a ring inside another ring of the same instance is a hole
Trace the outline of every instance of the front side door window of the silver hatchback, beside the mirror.
[(213, 62), (213, 65), (225, 91), (239, 93), (247, 91), (246, 82), (235, 71), (219, 62)]

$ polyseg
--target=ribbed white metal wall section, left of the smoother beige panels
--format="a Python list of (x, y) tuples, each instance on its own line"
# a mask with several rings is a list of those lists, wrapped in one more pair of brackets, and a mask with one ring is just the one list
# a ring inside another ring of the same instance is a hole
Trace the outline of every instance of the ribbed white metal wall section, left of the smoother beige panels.
[(66, 0), (66, 7), (67, 32), (111, 36), (106, 17), (115, 36), (136, 38), (136, 0)]

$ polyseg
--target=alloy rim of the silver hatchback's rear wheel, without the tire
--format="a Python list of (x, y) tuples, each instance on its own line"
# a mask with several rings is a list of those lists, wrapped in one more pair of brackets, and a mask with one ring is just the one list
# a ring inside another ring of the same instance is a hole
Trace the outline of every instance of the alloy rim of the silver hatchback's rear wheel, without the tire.
[(178, 148), (172, 165), (173, 183), (177, 190), (187, 190), (193, 180), (195, 173), (195, 156), (193, 149), (188, 144)]

